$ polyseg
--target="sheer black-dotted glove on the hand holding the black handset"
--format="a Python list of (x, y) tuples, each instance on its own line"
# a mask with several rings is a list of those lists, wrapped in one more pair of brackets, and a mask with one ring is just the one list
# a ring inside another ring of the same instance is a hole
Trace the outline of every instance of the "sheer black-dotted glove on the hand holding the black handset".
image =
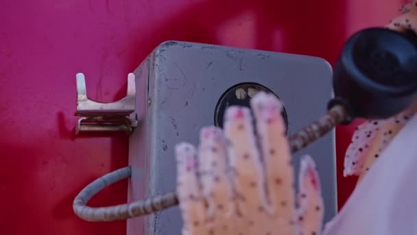
[[(390, 21), (387, 27), (398, 32), (405, 32), (405, 30), (417, 32), (417, 0), (404, 5), (401, 13), (401, 16)], [(359, 125), (346, 150), (344, 176), (358, 175), (358, 182), (360, 182), (381, 152), (416, 111), (417, 102), (409, 109), (387, 120), (370, 120)]]

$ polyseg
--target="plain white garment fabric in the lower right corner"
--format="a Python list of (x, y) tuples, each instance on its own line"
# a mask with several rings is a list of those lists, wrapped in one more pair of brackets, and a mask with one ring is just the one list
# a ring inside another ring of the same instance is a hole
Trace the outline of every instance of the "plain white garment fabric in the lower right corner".
[(417, 115), (381, 153), (324, 235), (417, 234)]

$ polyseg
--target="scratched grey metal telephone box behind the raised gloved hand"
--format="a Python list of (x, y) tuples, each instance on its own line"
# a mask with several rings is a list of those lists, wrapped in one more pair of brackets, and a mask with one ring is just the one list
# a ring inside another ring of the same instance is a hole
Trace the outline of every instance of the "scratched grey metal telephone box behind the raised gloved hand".
[[(138, 91), (147, 78), (146, 98), (138, 98), (136, 105), (146, 103), (147, 109), (130, 138), (130, 201), (175, 190), (174, 146), (182, 141), (198, 144), (200, 128), (213, 125), (217, 101), (233, 85), (257, 82), (274, 91), (285, 104), (289, 135), (322, 115), (332, 94), (331, 66), (311, 56), (169, 41), (146, 61), (136, 69)], [(298, 171), (300, 155), (315, 159), (326, 221), (337, 208), (334, 148), (332, 132), (296, 154), (294, 161)], [(141, 234), (138, 223), (128, 221), (129, 235)], [(178, 207), (171, 208), (147, 216), (143, 234), (176, 235), (181, 226)]]

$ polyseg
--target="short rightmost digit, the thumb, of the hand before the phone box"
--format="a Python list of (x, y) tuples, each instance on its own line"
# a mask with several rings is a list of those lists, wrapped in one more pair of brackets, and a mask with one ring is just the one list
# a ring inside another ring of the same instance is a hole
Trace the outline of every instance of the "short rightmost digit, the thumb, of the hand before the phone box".
[(324, 203), (315, 163), (308, 155), (302, 157), (298, 175), (298, 224), (302, 234), (321, 234)]

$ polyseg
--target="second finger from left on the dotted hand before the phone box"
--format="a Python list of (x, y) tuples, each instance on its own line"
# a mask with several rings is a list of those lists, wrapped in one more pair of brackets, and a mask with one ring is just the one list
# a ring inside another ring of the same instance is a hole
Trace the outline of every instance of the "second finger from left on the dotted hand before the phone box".
[(199, 170), (202, 193), (208, 202), (208, 220), (213, 234), (233, 232), (232, 183), (226, 174), (226, 142), (220, 128), (206, 127), (200, 131)]

